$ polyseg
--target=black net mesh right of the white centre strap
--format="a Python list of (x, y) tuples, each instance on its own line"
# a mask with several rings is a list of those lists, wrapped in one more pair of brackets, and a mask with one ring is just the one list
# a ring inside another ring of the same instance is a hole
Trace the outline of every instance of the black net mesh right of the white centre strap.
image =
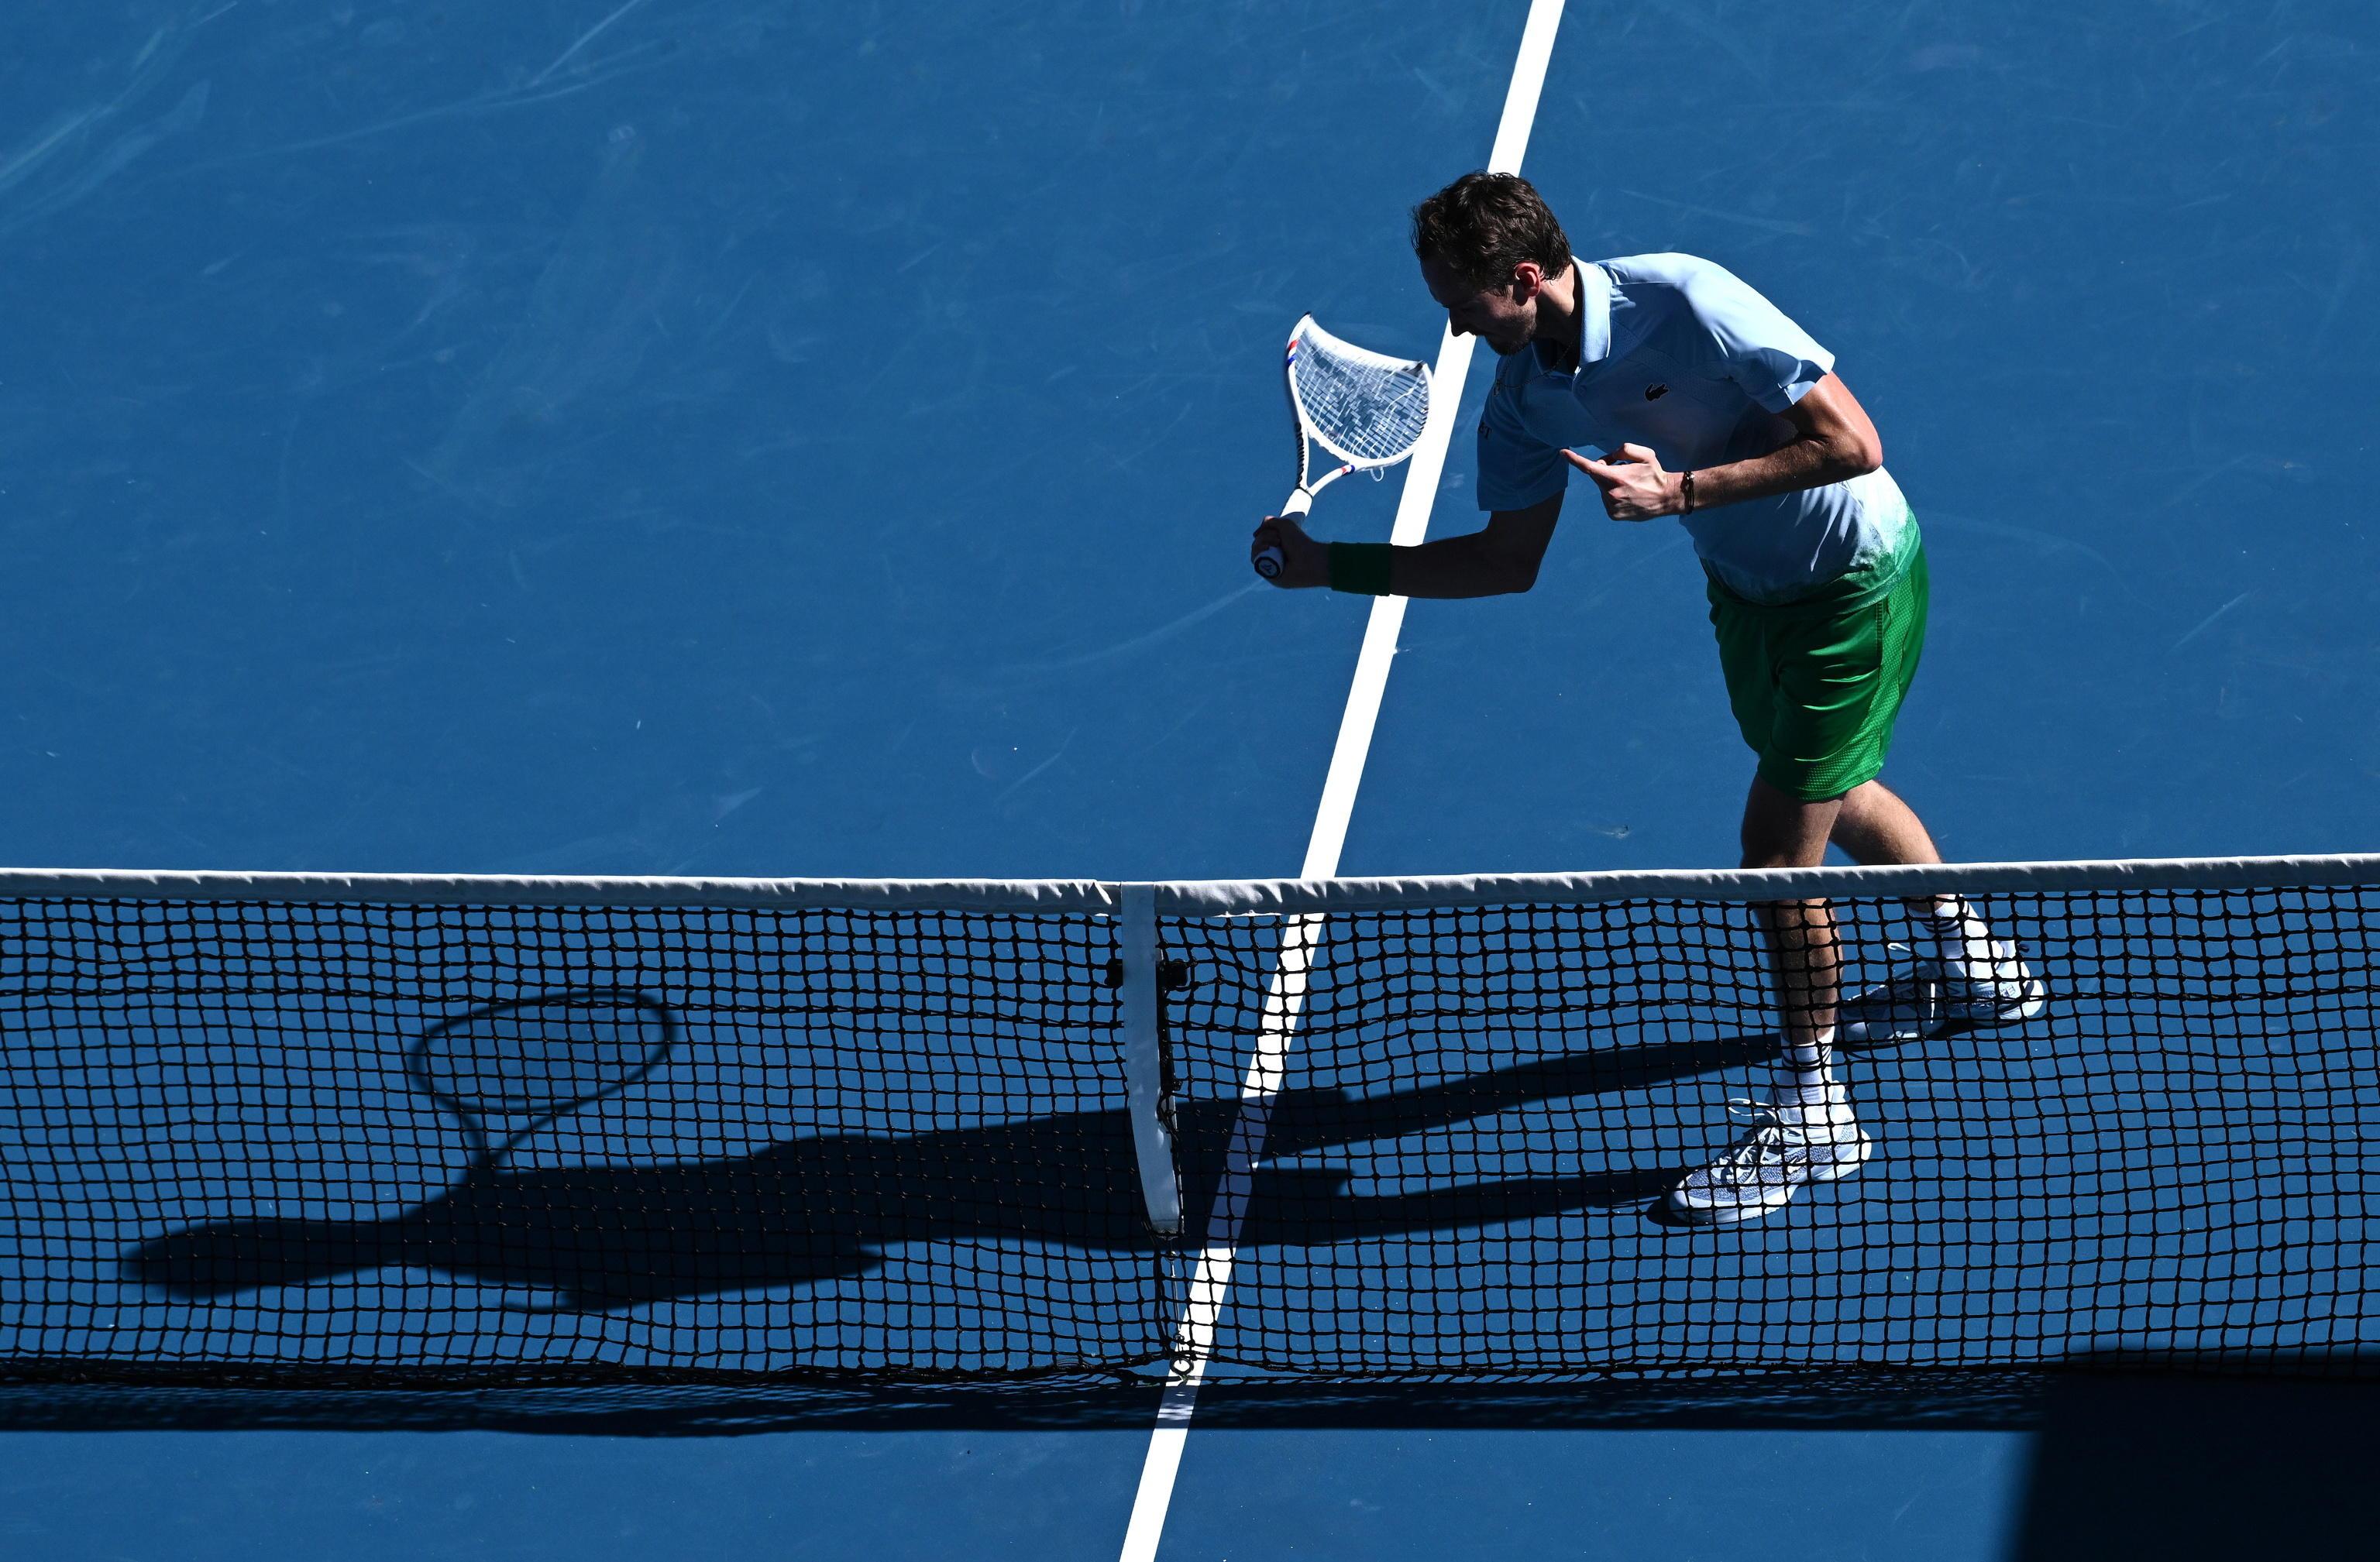
[[(1778, 1072), (1752, 906), (1326, 918), (1214, 1355), (1357, 1377), (2359, 1372), (2380, 1346), (2380, 889), (1975, 906), (2047, 1013), (1840, 1051), (1875, 1158), (1723, 1229), (1664, 1196)], [(1892, 944), (1930, 951), (1899, 901), (1835, 911), (1847, 991), (1906, 965)], [(1202, 972), (1173, 1022), (1192, 1122), (1242, 1089), (1283, 920), (1169, 930)], [(1211, 1165), (1211, 1127), (1192, 1139)]]

